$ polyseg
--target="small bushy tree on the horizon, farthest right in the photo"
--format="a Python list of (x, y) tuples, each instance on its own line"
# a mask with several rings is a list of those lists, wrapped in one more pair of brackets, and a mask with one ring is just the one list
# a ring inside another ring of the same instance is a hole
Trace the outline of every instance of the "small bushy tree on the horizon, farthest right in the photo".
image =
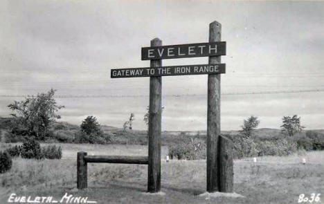
[(298, 118), (297, 115), (284, 116), (282, 118), (282, 125), (281, 132), (284, 133), (286, 136), (294, 136), (295, 133), (300, 133), (305, 127), (300, 125), (300, 117)]

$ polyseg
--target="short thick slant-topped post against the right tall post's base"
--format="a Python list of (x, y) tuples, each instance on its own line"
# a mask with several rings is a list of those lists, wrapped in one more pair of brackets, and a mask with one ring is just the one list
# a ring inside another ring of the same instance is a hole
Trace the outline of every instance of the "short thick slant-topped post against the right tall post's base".
[(233, 193), (233, 142), (219, 136), (219, 192)]

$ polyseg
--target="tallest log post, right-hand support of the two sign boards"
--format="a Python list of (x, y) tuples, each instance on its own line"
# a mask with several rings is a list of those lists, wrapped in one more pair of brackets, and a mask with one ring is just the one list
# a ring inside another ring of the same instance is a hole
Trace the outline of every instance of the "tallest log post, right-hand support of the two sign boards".
[[(222, 26), (217, 21), (209, 24), (209, 41), (221, 41)], [(221, 62), (220, 56), (209, 57), (208, 64)], [(218, 187), (218, 137), (220, 135), (220, 74), (208, 75), (207, 104), (207, 191), (216, 192)]]

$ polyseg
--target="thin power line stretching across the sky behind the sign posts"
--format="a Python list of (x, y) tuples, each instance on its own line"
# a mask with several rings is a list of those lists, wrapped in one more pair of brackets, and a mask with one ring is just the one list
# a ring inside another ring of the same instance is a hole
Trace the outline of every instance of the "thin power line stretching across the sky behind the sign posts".
[[(276, 93), (309, 93), (309, 92), (324, 92), (324, 89), (309, 89), (309, 90), (289, 90), (289, 91), (255, 91), (243, 93), (222, 93), (222, 95), (255, 95), (255, 94), (276, 94)], [(206, 94), (167, 94), (163, 98), (177, 97), (201, 97)], [(24, 98), (35, 97), (35, 95), (0, 95), (0, 98)], [(55, 98), (145, 98), (149, 95), (55, 95)]]

